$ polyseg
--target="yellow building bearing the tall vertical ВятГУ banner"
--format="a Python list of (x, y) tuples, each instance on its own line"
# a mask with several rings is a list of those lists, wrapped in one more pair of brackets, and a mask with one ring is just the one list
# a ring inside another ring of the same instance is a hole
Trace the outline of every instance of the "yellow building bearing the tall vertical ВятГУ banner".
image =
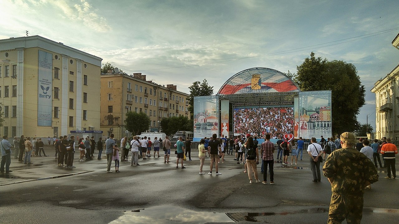
[(99, 130), (101, 61), (37, 35), (0, 40), (0, 135)]

